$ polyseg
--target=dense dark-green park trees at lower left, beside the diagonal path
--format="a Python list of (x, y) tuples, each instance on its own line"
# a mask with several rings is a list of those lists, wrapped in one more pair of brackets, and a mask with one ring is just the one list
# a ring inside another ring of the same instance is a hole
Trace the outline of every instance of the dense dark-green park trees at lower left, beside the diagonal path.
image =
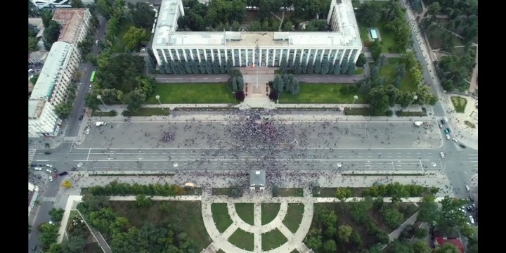
[[(150, 205), (148, 198), (142, 195), (138, 197), (137, 205), (139, 203), (142, 208)], [(174, 219), (160, 226), (146, 222), (138, 228), (133, 226), (129, 219), (117, 214), (105, 196), (85, 195), (77, 209), (91, 226), (105, 235), (112, 252), (200, 252), (188, 235), (182, 232), (183, 224)]]

